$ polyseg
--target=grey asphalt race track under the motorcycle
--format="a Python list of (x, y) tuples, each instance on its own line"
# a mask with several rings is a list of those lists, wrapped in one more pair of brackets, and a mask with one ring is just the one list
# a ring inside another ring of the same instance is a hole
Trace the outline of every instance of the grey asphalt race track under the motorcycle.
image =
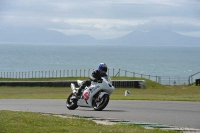
[(200, 103), (177, 101), (111, 100), (103, 111), (66, 108), (65, 99), (0, 99), (0, 110), (20, 110), (115, 118), (200, 129)]

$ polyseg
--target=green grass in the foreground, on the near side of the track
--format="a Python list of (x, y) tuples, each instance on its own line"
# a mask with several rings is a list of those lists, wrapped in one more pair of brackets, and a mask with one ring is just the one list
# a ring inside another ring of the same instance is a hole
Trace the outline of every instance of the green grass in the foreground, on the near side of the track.
[(0, 111), (1, 133), (177, 133), (135, 125), (101, 125), (82, 118), (60, 118), (32, 112)]

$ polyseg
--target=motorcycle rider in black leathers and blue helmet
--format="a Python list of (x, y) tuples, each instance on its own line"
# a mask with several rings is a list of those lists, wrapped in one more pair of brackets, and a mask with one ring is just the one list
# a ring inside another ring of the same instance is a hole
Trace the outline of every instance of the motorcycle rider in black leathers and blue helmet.
[(100, 63), (98, 70), (95, 70), (92, 72), (92, 75), (90, 76), (90, 80), (86, 80), (82, 83), (80, 88), (78, 89), (78, 93), (75, 94), (75, 98), (78, 99), (80, 98), (81, 91), (86, 87), (91, 85), (91, 81), (94, 82), (101, 82), (101, 77), (107, 76), (107, 65), (105, 63)]

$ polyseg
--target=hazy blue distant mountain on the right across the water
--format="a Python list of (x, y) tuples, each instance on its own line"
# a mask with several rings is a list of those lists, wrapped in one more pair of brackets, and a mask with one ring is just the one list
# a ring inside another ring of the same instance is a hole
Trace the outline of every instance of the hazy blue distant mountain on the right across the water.
[(104, 43), (126, 45), (199, 45), (200, 38), (184, 36), (172, 31), (133, 31), (123, 37), (103, 40)]

